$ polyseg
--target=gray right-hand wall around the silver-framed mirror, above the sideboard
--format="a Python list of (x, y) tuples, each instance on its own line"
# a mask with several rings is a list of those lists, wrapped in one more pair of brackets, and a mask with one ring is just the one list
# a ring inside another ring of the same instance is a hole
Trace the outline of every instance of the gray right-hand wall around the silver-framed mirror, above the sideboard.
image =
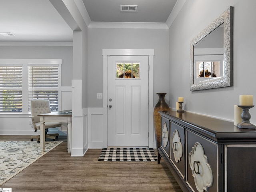
[[(234, 86), (190, 91), (190, 41), (222, 12), (234, 6)], [(234, 120), (239, 95), (254, 95), (256, 103), (256, 1), (187, 0), (170, 27), (170, 107), (184, 97), (190, 112)], [(256, 107), (250, 110), (256, 124)]]

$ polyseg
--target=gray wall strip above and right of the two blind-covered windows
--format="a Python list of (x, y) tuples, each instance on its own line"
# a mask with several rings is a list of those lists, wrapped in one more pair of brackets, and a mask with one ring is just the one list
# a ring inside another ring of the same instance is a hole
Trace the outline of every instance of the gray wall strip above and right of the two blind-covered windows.
[(62, 59), (62, 86), (71, 86), (72, 46), (0, 46), (2, 59)]

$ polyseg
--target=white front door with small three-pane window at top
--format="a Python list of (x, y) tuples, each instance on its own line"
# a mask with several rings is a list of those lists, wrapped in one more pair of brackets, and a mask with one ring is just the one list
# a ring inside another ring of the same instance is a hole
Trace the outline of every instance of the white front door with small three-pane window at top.
[(148, 146), (148, 56), (108, 56), (108, 146)]

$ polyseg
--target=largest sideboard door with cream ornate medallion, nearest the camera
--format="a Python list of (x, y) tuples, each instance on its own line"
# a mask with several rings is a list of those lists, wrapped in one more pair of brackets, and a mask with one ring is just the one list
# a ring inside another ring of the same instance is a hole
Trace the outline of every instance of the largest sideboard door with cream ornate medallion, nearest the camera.
[(186, 140), (186, 182), (194, 191), (218, 192), (218, 145), (189, 130)]

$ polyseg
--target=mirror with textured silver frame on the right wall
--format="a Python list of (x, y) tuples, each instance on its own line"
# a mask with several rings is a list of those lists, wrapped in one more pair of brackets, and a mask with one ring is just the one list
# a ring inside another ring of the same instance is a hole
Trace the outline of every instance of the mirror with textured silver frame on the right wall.
[[(232, 86), (232, 23), (233, 7), (230, 6), (228, 10), (223, 12), (191, 41), (190, 91)], [(218, 38), (214, 37), (214, 39), (210, 39), (213, 36), (216, 36), (216, 34), (219, 35)], [(220, 42), (220, 40), (221, 43), (217, 43)], [(222, 47), (220, 47), (220, 44), (222, 44)], [(212, 69), (210, 69), (212, 70), (210, 76), (205, 75), (208, 70), (205, 71), (204, 67), (202, 67), (204, 66), (204, 62), (208, 64), (208, 66), (212, 66)], [(214, 70), (214, 63), (218, 63), (219, 70)], [(198, 65), (201, 66), (200, 69), (198, 68)], [(213, 72), (217, 72), (217, 74), (214, 74)]]

